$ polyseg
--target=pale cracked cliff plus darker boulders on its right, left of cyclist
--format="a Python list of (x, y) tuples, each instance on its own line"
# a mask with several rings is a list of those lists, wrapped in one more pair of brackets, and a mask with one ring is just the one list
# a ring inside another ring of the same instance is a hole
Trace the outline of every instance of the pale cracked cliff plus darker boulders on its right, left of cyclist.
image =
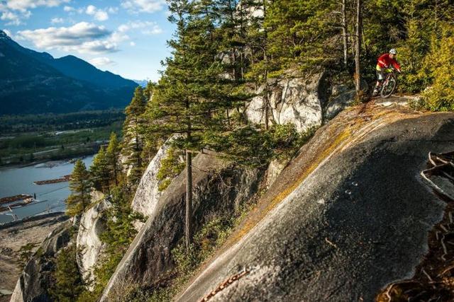
[[(265, 93), (271, 91), (271, 93)], [(287, 71), (253, 92), (245, 116), (256, 124), (294, 124), (299, 132), (319, 127), (355, 100), (355, 89), (331, 83), (325, 73)]]

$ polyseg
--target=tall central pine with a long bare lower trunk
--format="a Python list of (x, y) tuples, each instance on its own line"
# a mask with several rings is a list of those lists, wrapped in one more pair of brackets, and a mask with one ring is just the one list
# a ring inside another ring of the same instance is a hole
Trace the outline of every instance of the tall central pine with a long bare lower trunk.
[(175, 146), (186, 156), (186, 243), (192, 242), (192, 156), (206, 146), (206, 137), (228, 127), (226, 112), (238, 100), (234, 85), (223, 77), (218, 62), (221, 39), (216, 32), (214, 1), (170, 1), (170, 21), (177, 25), (169, 45), (173, 57), (155, 88), (147, 120), (150, 132), (185, 134)]

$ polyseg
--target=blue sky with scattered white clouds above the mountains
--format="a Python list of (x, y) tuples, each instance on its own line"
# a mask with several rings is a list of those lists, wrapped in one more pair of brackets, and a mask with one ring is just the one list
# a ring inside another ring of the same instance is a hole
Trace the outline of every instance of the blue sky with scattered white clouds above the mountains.
[(0, 0), (0, 29), (23, 47), (134, 80), (159, 79), (168, 15), (165, 0)]

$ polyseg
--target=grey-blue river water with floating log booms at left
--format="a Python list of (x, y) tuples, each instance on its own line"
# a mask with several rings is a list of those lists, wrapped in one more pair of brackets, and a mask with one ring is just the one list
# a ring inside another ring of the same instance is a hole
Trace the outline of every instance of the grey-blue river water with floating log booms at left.
[[(84, 163), (89, 167), (93, 156), (84, 158)], [(0, 169), (0, 198), (17, 194), (36, 194), (39, 202), (33, 202), (25, 207), (13, 209), (13, 212), (0, 213), (0, 224), (13, 221), (13, 214), (22, 219), (26, 216), (42, 214), (48, 211), (65, 211), (65, 199), (70, 195), (68, 182), (50, 185), (35, 185), (37, 180), (50, 180), (60, 178), (72, 173), (73, 163), (61, 161), (54, 163), (40, 163), (23, 168)]]

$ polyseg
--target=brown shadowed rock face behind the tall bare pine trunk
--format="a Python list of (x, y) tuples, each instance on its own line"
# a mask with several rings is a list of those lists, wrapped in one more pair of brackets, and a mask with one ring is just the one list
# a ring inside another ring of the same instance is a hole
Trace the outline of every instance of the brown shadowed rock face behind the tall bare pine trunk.
[[(199, 153), (193, 165), (194, 231), (204, 223), (208, 213), (233, 214), (239, 204), (256, 192), (263, 175), (259, 170), (236, 168), (212, 153)], [(114, 301), (131, 284), (153, 284), (160, 274), (174, 267), (170, 251), (184, 236), (184, 173), (158, 199), (111, 277), (101, 301)]]

